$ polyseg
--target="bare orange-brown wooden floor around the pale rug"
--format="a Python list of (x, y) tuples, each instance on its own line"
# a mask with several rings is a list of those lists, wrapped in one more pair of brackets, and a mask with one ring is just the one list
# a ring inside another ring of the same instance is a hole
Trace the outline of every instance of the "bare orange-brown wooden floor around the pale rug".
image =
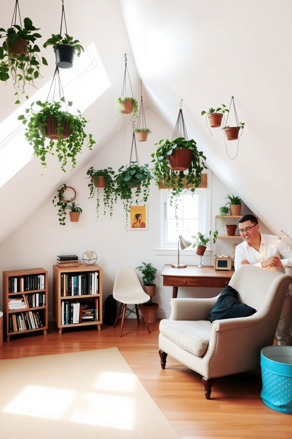
[(11, 336), (0, 349), (0, 359), (116, 346), (181, 438), (292, 438), (292, 415), (271, 410), (260, 398), (260, 370), (215, 379), (208, 401), (196, 372), (169, 356), (162, 371), (158, 325), (150, 324), (148, 334), (143, 323), (138, 326), (137, 320), (127, 319), (120, 338), (120, 324), (115, 329), (103, 324), (101, 331), (65, 329), (59, 335), (50, 323), (46, 336)]

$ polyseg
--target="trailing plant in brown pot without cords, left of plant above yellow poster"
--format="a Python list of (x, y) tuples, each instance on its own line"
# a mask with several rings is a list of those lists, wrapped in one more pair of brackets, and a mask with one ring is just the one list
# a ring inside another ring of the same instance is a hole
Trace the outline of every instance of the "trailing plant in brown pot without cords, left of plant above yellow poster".
[[(87, 175), (90, 178), (88, 187), (90, 189), (90, 197), (93, 198), (96, 194), (96, 214), (97, 220), (99, 219), (99, 187), (104, 187), (103, 191), (103, 205), (104, 212), (106, 214), (106, 207), (109, 209), (109, 215), (113, 215), (113, 201), (116, 201), (115, 184), (113, 181), (113, 169), (108, 167), (107, 169), (93, 169), (93, 166), (88, 169)], [(97, 188), (97, 191), (95, 191)]]

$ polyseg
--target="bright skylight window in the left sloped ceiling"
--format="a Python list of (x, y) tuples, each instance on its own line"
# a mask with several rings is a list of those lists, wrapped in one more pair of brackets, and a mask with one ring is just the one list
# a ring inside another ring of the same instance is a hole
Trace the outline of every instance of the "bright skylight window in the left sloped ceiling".
[[(74, 59), (72, 68), (60, 69), (60, 79), (65, 100), (73, 101), (67, 111), (73, 114), (77, 109), (82, 113), (111, 85), (94, 43), (81, 53), (80, 58)], [(33, 147), (24, 137), (25, 125), (17, 118), (25, 114), (32, 102), (46, 101), (51, 83), (52, 80), (0, 123), (0, 187), (33, 157)], [(53, 87), (48, 100), (53, 101)], [(59, 101), (59, 96), (55, 96), (55, 101)]]

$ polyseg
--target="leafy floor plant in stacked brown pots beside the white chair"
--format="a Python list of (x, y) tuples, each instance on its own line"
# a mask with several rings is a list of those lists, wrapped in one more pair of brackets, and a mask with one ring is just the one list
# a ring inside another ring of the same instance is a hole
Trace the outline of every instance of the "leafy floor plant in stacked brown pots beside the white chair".
[(150, 296), (150, 301), (143, 303), (143, 310), (146, 314), (148, 323), (155, 323), (157, 321), (157, 308), (158, 303), (152, 302), (152, 297), (155, 295), (156, 285), (153, 284), (155, 279), (155, 273), (157, 268), (151, 266), (151, 263), (146, 264), (142, 262), (142, 265), (137, 267), (136, 270), (140, 270), (144, 275), (142, 277), (143, 288), (145, 293)]

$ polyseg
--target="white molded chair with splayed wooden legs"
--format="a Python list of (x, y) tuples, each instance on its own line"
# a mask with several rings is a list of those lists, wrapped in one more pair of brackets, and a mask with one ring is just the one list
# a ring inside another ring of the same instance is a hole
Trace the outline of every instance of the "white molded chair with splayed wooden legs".
[(148, 302), (150, 297), (144, 292), (139, 278), (132, 268), (120, 268), (117, 270), (115, 283), (113, 285), (113, 298), (121, 302), (113, 327), (116, 326), (118, 318), (123, 312), (120, 337), (122, 337), (126, 311), (129, 311), (130, 313), (133, 312), (132, 309), (127, 308), (127, 305), (135, 305), (138, 324), (140, 324), (139, 309), (141, 310), (147, 331), (150, 334), (145, 313), (140, 306), (142, 303)]

